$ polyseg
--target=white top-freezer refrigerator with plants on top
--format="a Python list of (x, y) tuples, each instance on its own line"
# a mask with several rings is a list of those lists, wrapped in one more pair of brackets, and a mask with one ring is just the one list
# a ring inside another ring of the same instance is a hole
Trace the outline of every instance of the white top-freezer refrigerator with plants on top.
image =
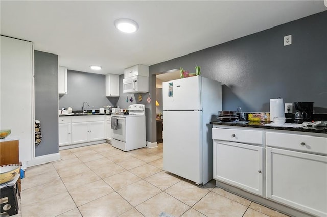
[(221, 82), (193, 76), (162, 83), (164, 170), (206, 184), (213, 179), (212, 120), (222, 110)]

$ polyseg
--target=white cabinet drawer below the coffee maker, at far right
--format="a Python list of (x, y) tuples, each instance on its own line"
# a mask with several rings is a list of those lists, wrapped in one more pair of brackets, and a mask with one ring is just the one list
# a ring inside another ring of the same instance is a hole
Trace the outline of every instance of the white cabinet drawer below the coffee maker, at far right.
[(284, 149), (327, 154), (326, 137), (266, 132), (266, 145)]

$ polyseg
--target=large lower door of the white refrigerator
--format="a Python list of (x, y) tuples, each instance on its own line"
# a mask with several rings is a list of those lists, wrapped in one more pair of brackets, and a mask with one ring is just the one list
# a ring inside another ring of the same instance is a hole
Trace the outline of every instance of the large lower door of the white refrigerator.
[(164, 111), (164, 170), (203, 182), (201, 111)]

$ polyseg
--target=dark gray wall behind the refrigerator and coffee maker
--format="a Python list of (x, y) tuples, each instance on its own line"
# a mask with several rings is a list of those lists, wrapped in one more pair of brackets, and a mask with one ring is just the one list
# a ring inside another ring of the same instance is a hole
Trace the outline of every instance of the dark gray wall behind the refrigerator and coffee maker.
[[(179, 67), (194, 73), (198, 65), (203, 77), (222, 82), (223, 110), (269, 112), (269, 99), (281, 97), (284, 103), (312, 101), (314, 113), (327, 113), (326, 26), (324, 11), (152, 65), (150, 93), (156, 91), (155, 74)], [(292, 44), (283, 46), (287, 35)], [(155, 120), (155, 104), (147, 107)], [(155, 123), (147, 123), (147, 140), (155, 142)]]

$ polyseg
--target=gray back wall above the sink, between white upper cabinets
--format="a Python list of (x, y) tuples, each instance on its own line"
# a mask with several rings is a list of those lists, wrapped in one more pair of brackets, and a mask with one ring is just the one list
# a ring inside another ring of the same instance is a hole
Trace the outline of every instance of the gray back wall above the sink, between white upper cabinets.
[(119, 97), (105, 96), (105, 75), (68, 70), (67, 80), (68, 94), (59, 96), (59, 109), (81, 110), (83, 102), (89, 103), (88, 110), (116, 106)]

